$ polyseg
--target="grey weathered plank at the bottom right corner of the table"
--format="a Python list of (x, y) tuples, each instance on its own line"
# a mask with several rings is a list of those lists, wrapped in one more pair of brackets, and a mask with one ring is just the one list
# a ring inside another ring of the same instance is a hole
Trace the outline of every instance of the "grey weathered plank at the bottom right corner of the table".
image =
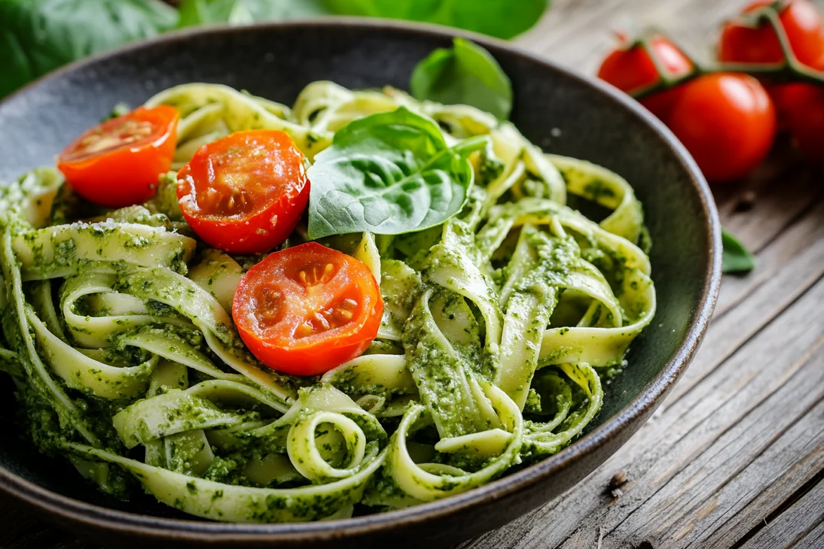
[[(792, 507), (751, 537), (742, 545), (742, 549), (790, 549), (796, 542), (808, 538), (807, 534), (817, 530), (824, 523), (824, 479), (818, 482), (806, 495)], [(822, 532), (816, 531), (818, 542), (822, 541)], [(809, 539), (808, 542), (816, 542)], [(822, 547), (812, 545), (810, 547)]]

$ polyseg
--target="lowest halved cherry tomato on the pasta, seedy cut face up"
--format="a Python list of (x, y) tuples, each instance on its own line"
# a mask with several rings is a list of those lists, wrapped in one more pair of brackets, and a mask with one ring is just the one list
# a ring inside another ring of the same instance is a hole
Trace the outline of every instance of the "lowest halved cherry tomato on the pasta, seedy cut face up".
[(381, 290), (366, 264), (310, 242), (270, 254), (241, 278), (232, 318), (272, 370), (319, 375), (369, 347)]

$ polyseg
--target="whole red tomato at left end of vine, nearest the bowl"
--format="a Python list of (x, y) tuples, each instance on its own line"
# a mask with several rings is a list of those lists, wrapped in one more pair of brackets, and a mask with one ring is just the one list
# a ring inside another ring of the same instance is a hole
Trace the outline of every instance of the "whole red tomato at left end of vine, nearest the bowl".
[[(666, 38), (654, 37), (650, 40), (650, 46), (658, 54), (670, 76), (681, 77), (692, 72), (690, 59)], [(598, 69), (598, 77), (627, 93), (651, 86), (659, 79), (653, 60), (640, 45), (616, 49), (606, 56)], [(680, 96), (681, 86), (678, 86), (641, 100), (641, 105), (663, 120), (672, 112)]]

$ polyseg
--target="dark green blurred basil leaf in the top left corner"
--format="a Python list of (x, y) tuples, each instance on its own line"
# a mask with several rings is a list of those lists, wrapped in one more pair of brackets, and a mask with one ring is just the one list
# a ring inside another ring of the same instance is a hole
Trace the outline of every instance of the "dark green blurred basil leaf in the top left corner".
[(0, 97), (90, 54), (176, 26), (161, 0), (0, 0)]

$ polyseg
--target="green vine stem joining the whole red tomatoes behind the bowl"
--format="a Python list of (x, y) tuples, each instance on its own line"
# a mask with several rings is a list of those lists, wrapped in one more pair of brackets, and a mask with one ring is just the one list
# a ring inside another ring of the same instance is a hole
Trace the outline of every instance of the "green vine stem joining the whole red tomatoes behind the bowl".
[(634, 40), (631, 44), (628, 44), (627, 47), (640, 47), (644, 49), (652, 60), (655, 70), (658, 72), (658, 81), (650, 86), (644, 86), (637, 90), (630, 91), (630, 95), (636, 100), (642, 100), (649, 95), (666, 91), (675, 86), (681, 86), (681, 84), (685, 84), (688, 81), (700, 77), (702, 74), (710, 72), (738, 72), (766, 79), (773, 83), (809, 82), (811, 84), (817, 84), (818, 86), (824, 86), (824, 72), (804, 65), (795, 57), (793, 48), (789, 44), (787, 32), (784, 30), (784, 26), (781, 24), (779, 18), (782, 5), (783, 2), (774, 2), (759, 8), (755, 12), (744, 14), (738, 19), (744, 26), (751, 28), (758, 28), (764, 23), (767, 23), (773, 28), (779, 40), (781, 53), (784, 56), (784, 59), (779, 63), (712, 63), (708, 66), (701, 66), (700, 63), (686, 53), (685, 49), (675, 44), (675, 46), (681, 50), (681, 53), (690, 60), (693, 69), (686, 74), (673, 76), (667, 70), (667, 67), (664, 66), (658, 53), (652, 47), (652, 40), (656, 37), (665, 37), (667, 40), (670, 39), (666, 33), (653, 29), (644, 33), (644, 35)]

